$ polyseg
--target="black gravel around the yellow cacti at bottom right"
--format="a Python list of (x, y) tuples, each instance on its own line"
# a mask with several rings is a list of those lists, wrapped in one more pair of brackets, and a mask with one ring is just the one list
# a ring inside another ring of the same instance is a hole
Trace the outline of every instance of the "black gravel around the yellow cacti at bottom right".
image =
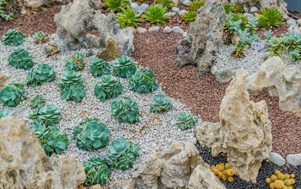
[[(218, 163), (226, 163), (227, 156), (220, 153), (216, 157), (211, 155), (211, 148), (210, 147), (203, 147), (200, 143), (196, 144), (197, 149), (200, 151), (200, 155), (203, 160), (208, 163), (209, 165), (215, 165)], [(234, 181), (223, 181), (221, 182), (226, 186), (226, 188), (256, 188), (256, 189), (269, 189), (269, 185), (265, 182), (265, 178), (270, 177), (274, 174), (275, 170), (280, 170), (281, 173), (294, 173), (295, 174), (295, 183), (292, 185), (293, 188), (301, 189), (301, 166), (292, 166), (289, 164), (284, 164), (283, 166), (277, 166), (276, 164), (270, 161), (263, 161), (261, 163), (261, 167), (259, 169), (257, 175), (257, 183), (253, 183), (251, 181), (247, 182), (245, 180), (240, 179), (238, 176), (233, 175)]]

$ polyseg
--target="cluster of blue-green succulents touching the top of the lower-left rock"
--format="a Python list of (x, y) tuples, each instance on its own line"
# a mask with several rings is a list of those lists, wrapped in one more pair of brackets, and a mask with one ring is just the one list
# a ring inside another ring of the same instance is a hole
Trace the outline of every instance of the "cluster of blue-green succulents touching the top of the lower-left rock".
[(60, 131), (56, 126), (46, 127), (41, 119), (34, 120), (30, 128), (35, 131), (47, 156), (61, 154), (71, 139), (66, 131)]

